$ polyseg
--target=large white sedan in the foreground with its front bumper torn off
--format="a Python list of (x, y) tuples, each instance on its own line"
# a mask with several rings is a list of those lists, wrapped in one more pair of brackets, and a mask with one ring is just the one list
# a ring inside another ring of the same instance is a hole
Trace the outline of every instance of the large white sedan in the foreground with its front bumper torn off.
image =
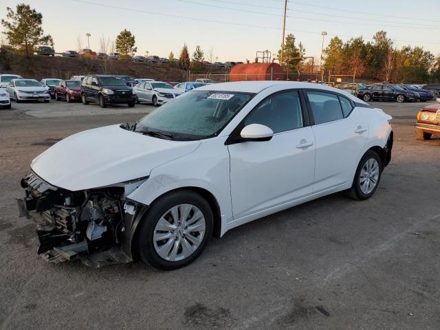
[(173, 270), (213, 234), (341, 190), (371, 197), (391, 160), (390, 120), (322, 85), (208, 85), (135, 124), (54, 144), (22, 179), (19, 208), (47, 225), (47, 261), (101, 266), (135, 254)]

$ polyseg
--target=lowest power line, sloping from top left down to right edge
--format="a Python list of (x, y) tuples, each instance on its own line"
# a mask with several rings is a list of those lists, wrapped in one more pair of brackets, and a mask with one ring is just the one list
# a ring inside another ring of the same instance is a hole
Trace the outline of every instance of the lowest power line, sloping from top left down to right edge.
[[(181, 15), (175, 15), (175, 14), (167, 14), (164, 12), (152, 12), (149, 10), (139, 10), (139, 9), (134, 9), (134, 8), (126, 8), (126, 7), (120, 7), (117, 5), (108, 5), (108, 4), (104, 4), (104, 3), (96, 3), (96, 2), (92, 2), (92, 1), (87, 1), (87, 0), (69, 0), (69, 1), (74, 1), (77, 3), (86, 3), (88, 5), (98, 5), (100, 7), (104, 7), (104, 8), (112, 8), (112, 9), (117, 9), (117, 10), (125, 10), (125, 11), (129, 11), (129, 12), (140, 12), (143, 14), (151, 14), (151, 15), (157, 15), (157, 16), (162, 16), (162, 17), (173, 17), (176, 19), (188, 19), (190, 21), (203, 21), (203, 22), (209, 22), (209, 23), (218, 23), (218, 24), (223, 24), (223, 25), (237, 25), (237, 26), (243, 26), (243, 27), (248, 27), (248, 28), (262, 28), (262, 29), (268, 29), (268, 30), (281, 30), (280, 28), (274, 28), (272, 26), (265, 26), (265, 25), (252, 25), (252, 24), (245, 24), (245, 23), (236, 23), (236, 22), (225, 22), (225, 21), (217, 21), (217, 20), (213, 20), (213, 19), (201, 19), (198, 17), (185, 17), (185, 16), (181, 16)], [(294, 29), (286, 29), (288, 31), (292, 31), (292, 32), (303, 32), (303, 33), (308, 33), (308, 34), (321, 34), (321, 32), (313, 32), (313, 31), (305, 31), (305, 30), (294, 30)], [(344, 36), (342, 34), (329, 34), (331, 36)], [(351, 36), (347, 36), (345, 35), (344, 37), (347, 38), (351, 38)], [(399, 41), (399, 42), (403, 42), (403, 43), (422, 43), (422, 44), (434, 44), (434, 45), (440, 45), (440, 43), (435, 43), (435, 42), (429, 42), (429, 41)]]

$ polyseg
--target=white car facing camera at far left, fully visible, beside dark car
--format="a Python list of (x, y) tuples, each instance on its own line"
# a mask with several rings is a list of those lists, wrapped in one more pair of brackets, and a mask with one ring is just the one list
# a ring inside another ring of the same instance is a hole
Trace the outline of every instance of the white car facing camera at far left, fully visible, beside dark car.
[(12, 79), (7, 87), (7, 91), (17, 103), (25, 100), (50, 101), (47, 87), (44, 87), (35, 79)]

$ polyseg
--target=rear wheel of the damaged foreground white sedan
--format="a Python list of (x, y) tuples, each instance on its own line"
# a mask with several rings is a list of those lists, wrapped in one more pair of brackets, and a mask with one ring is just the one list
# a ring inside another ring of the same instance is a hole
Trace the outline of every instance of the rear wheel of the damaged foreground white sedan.
[(349, 196), (363, 200), (373, 196), (382, 175), (382, 160), (373, 150), (365, 153), (356, 169)]

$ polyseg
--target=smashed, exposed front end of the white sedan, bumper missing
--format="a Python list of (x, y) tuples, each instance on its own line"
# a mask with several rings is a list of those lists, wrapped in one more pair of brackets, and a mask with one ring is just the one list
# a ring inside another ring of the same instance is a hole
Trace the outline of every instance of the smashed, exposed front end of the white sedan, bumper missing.
[[(142, 179), (104, 188), (69, 191), (31, 172), (21, 180), (25, 198), (17, 199), (21, 216), (36, 222), (38, 254), (60, 263), (80, 259), (100, 267), (132, 261), (135, 215), (142, 207), (126, 199)], [(125, 208), (125, 210), (124, 210)], [(143, 207), (145, 208), (145, 207)]]

